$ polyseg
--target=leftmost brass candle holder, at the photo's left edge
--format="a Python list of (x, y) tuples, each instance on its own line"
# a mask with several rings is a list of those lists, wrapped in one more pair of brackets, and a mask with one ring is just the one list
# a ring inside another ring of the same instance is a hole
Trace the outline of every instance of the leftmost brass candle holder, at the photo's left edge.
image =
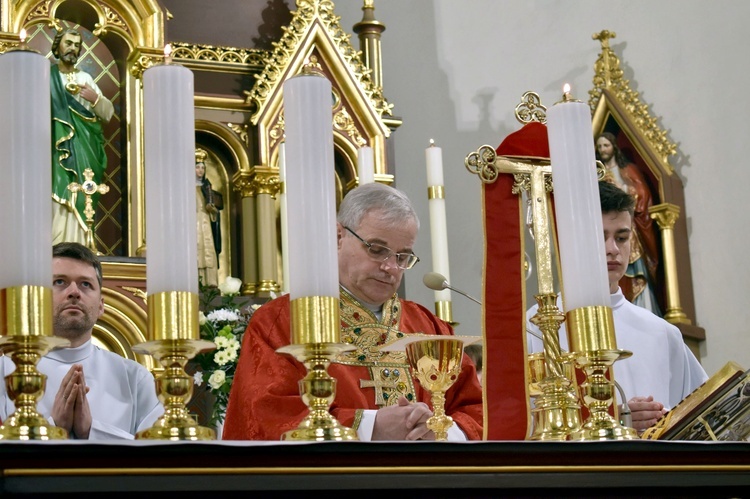
[(39, 359), (55, 347), (70, 345), (52, 331), (52, 290), (15, 286), (0, 290), (0, 349), (16, 365), (5, 377), (8, 397), (16, 410), (0, 426), (0, 440), (64, 440), (68, 432), (51, 425), (37, 411), (47, 376), (36, 369)]

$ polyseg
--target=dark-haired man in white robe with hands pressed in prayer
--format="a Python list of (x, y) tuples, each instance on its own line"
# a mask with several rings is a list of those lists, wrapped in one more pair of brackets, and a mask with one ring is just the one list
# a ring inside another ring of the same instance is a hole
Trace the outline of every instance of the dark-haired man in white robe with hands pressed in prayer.
[[(73, 439), (132, 439), (164, 412), (154, 377), (137, 362), (91, 342), (94, 324), (104, 313), (96, 256), (78, 243), (57, 244), (52, 254), (53, 332), (70, 340), (70, 347), (40, 359), (37, 369), (47, 376), (47, 388), (38, 411)], [(5, 377), (15, 366), (8, 357), (0, 360)], [(3, 385), (0, 418), (14, 411)]]

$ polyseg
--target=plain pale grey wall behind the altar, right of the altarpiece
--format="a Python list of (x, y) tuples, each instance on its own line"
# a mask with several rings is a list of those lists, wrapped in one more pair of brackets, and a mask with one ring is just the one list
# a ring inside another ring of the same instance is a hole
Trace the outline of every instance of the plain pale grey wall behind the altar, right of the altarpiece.
[[(350, 30), (358, 0), (339, 0)], [(480, 187), (466, 154), (498, 145), (518, 124), (513, 108), (526, 90), (551, 105), (564, 82), (588, 100), (599, 43), (612, 46), (625, 77), (678, 144), (672, 158), (685, 184), (697, 323), (709, 374), (726, 361), (750, 368), (748, 225), (750, 138), (745, 64), (745, 0), (376, 0), (383, 35), (385, 95), (404, 120), (395, 135), (397, 186), (414, 200), (423, 230), (422, 258), (406, 279), (407, 297), (430, 308), (422, 285), (431, 270), (424, 148), (443, 147), (452, 283), (482, 289)], [(356, 39), (353, 40), (356, 44)], [(480, 334), (478, 307), (454, 294), (461, 334)]]

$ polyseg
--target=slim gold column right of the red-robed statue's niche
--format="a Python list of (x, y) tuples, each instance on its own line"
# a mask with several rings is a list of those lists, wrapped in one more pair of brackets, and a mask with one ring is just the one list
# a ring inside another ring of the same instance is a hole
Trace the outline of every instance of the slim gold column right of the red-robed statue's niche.
[(667, 285), (667, 310), (664, 319), (672, 324), (690, 324), (680, 305), (680, 285), (677, 278), (677, 258), (674, 245), (674, 224), (680, 217), (680, 207), (672, 203), (661, 203), (649, 208), (649, 215), (661, 229), (664, 248), (664, 280)]

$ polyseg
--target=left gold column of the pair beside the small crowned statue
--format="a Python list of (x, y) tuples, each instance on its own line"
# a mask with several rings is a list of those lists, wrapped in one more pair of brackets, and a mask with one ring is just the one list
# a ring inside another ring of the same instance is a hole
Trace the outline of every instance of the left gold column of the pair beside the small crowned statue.
[(254, 295), (258, 285), (258, 245), (256, 241), (255, 185), (250, 174), (240, 172), (232, 179), (240, 193), (242, 210), (242, 294)]

